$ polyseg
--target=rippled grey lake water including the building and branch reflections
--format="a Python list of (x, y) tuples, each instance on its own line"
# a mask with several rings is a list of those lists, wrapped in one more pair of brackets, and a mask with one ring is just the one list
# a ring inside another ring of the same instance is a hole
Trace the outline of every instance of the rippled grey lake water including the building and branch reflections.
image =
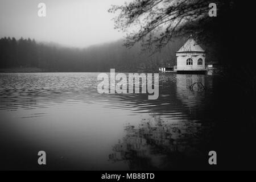
[[(212, 75), (159, 74), (159, 98), (100, 94), (99, 73), (1, 73), (1, 169), (204, 166)], [(190, 90), (201, 82), (205, 90)], [(47, 165), (38, 165), (38, 151)]]

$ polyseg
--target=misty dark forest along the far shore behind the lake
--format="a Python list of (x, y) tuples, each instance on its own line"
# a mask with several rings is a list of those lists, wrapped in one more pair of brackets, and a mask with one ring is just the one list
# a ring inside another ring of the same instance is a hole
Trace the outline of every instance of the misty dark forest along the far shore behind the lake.
[[(0, 68), (40, 68), (53, 72), (157, 71), (161, 66), (176, 65), (175, 52), (187, 39), (174, 42), (152, 55), (141, 52), (140, 44), (128, 49), (123, 40), (88, 48), (69, 48), (34, 39), (0, 39)], [(209, 51), (208, 51), (209, 52)], [(207, 60), (210, 60), (210, 54)]]

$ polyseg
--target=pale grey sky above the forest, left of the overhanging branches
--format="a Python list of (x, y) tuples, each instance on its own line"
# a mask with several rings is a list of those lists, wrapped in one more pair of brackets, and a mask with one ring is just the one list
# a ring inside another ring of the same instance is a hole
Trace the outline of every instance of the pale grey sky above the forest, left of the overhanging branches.
[[(87, 47), (123, 38), (114, 30), (111, 5), (127, 0), (0, 0), (0, 38), (34, 38), (63, 46)], [(130, 1), (130, 0), (129, 0)], [(46, 4), (46, 17), (38, 4)]]

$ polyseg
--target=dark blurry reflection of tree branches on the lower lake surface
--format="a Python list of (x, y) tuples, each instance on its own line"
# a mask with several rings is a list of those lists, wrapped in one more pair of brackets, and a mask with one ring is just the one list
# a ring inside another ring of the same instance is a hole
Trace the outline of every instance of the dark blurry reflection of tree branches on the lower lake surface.
[[(152, 120), (152, 121), (151, 121)], [(136, 128), (126, 126), (126, 136), (113, 147), (109, 159), (126, 161), (130, 169), (176, 169), (184, 160), (202, 158), (198, 145), (201, 124), (148, 118)]]

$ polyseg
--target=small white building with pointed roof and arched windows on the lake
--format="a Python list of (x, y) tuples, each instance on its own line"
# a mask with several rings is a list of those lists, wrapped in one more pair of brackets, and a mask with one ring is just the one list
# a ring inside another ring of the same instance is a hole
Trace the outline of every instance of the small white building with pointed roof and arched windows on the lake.
[(179, 72), (205, 72), (205, 51), (190, 37), (187, 42), (176, 52), (177, 67)]

